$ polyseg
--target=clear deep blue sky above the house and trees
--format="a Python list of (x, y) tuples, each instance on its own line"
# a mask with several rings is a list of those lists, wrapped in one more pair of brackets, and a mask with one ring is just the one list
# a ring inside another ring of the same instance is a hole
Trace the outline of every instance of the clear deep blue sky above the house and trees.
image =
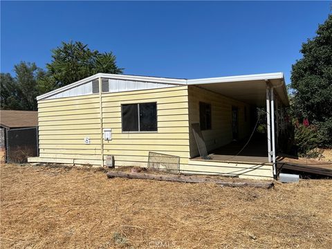
[(315, 36), (330, 1), (1, 1), (1, 72), (44, 68), (62, 41), (113, 51), (125, 74), (220, 77), (282, 71)]

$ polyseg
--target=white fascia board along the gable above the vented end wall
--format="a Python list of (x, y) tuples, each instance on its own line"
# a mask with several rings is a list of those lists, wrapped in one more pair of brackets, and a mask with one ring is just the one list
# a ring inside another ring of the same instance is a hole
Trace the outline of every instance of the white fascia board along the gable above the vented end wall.
[(42, 100), (44, 98), (48, 98), (52, 95), (57, 93), (61, 93), (68, 89), (72, 89), (73, 87), (80, 86), (81, 84), (85, 84), (90, 82), (91, 80), (98, 79), (98, 77), (106, 77), (109, 79), (116, 79), (116, 80), (135, 80), (141, 82), (152, 82), (152, 83), (161, 83), (161, 84), (175, 84), (175, 85), (186, 85), (187, 80), (185, 79), (172, 79), (172, 78), (164, 78), (164, 77), (149, 77), (149, 76), (136, 76), (136, 75), (118, 75), (118, 74), (111, 74), (111, 73), (97, 73), (90, 77), (86, 77), (82, 80), (74, 82), (72, 84), (68, 84), (67, 86), (63, 86), (59, 89), (55, 89), (48, 93), (44, 93), (43, 95), (37, 96), (37, 100)]

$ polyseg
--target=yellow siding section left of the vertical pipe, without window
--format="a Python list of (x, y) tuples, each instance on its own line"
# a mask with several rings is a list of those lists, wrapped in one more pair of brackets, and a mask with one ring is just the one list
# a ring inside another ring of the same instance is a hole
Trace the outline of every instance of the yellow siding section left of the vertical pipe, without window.
[(39, 157), (48, 163), (49, 158), (101, 162), (99, 95), (81, 97), (39, 101)]

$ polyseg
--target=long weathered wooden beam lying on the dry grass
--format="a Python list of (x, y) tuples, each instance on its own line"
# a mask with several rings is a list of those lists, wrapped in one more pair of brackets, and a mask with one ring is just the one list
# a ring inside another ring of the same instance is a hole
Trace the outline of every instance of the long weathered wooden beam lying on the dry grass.
[(225, 181), (218, 178), (204, 177), (204, 176), (170, 176), (166, 174), (145, 174), (145, 173), (133, 173), (133, 172), (107, 172), (108, 178), (120, 177), (130, 179), (146, 179), (156, 181), (172, 181), (180, 183), (215, 183), (217, 185), (226, 187), (273, 187), (273, 182), (234, 182)]

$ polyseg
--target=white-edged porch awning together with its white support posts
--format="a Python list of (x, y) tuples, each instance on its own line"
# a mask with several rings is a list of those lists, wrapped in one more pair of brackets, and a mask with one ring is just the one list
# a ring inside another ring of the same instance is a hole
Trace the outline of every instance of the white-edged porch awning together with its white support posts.
[[(276, 178), (276, 143), (279, 136), (279, 107), (289, 106), (283, 73), (239, 75), (187, 80), (188, 85), (199, 86), (228, 98), (246, 102), (256, 107), (266, 107), (266, 128), (268, 133), (268, 161), (273, 163)], [(282, 118), (284, 120), (284, 118)]]

